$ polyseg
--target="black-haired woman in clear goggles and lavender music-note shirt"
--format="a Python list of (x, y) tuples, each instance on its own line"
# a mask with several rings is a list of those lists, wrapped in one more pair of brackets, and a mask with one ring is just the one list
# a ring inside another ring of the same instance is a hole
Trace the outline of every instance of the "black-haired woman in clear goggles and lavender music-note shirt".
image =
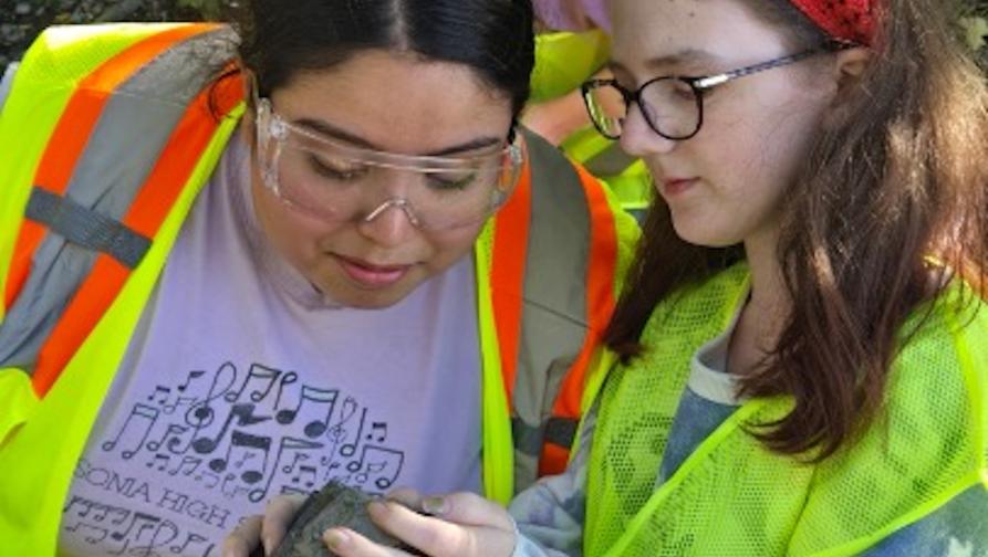
[(637, 227), (516, 125), (519, 0), (54, 28), (0, 99), (0, 555), (218, 555), (564, 467)]

